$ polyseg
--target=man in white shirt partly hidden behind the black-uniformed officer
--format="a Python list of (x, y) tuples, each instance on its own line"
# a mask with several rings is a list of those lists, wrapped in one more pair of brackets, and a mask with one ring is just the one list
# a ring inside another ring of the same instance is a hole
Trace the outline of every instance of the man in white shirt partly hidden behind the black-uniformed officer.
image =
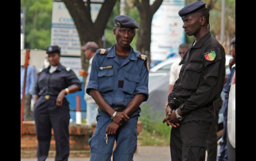
[[(175, 81), (179, 78), (180, 70), (182, 65), (179, 65), (180, 61), (183, 59), (185, 51), (189, 48), (189, 45), (187, 43), (182, 43), (179, 46), (179, 54), (181, 56), (181, 59), (174, 62), (170, 68), (170, 78), (169, 78), (169, 91), (168, 95), (172, 92), (173, 86)], [(165, 109), (167, 107), (168, 101), (165, 103)]]

